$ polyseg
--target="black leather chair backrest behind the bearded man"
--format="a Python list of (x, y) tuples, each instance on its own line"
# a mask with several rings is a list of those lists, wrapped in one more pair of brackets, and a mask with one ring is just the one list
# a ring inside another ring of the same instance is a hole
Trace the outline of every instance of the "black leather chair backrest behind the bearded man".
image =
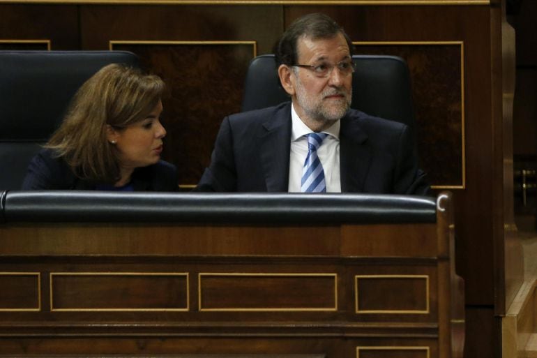
[[(407, 63), (400, 57), (354, 55), (351, 108), (407, 124), (414, 130), (414, 107)], [(278, 105), (289, 96), (280, 86), (273, 54), (250, 62), (242, 110)]]

